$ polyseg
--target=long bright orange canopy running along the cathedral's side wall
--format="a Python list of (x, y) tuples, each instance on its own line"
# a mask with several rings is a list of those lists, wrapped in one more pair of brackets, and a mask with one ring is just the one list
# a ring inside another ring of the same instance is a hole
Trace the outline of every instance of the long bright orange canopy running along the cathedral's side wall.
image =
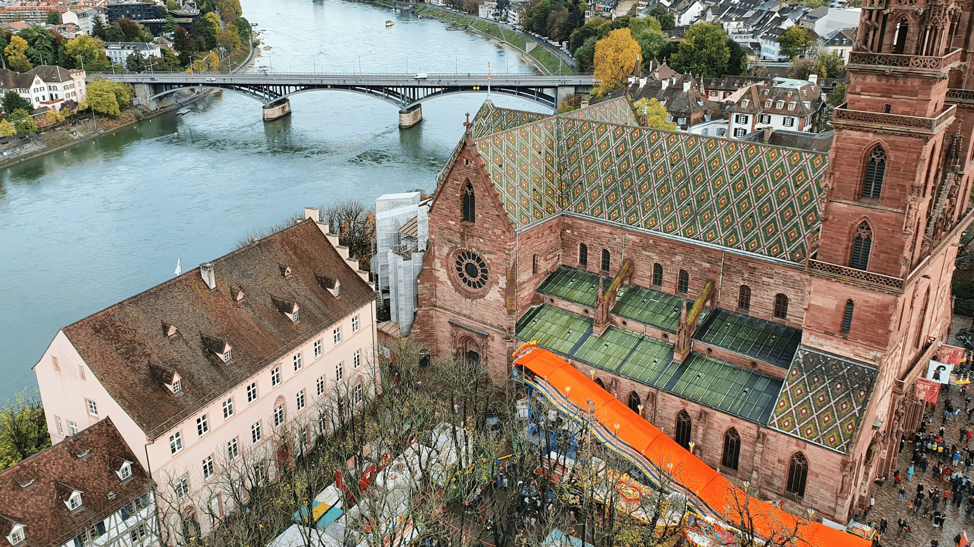
[[(557, 389), (584, 409), (593, 403), (594, 417), (618, 438), (668, 474), (688, 492), (709, 506), (710, 512), (734, 526), (750, 520), (753, 531), (763, 538), (794, 535), (795, 547), (869, 547), (870, 541), (816, 522), (800, 521), (794, 515), (748, 495), (726, 477), (693, 456), (598, 383), (547, 349), (536, 347), (514, 361)], [(567, 389), (570, 388), (570, 389)], [(742, 518), (742, 514), (746, 519)]]

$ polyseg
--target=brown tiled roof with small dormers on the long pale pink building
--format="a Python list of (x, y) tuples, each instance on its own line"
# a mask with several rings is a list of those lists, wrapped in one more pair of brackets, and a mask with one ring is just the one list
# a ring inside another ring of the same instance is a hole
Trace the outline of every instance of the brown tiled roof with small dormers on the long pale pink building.
[[(374, 296), (312, 220), (211, 264), (213, 290), (194, 269), (63, 329), (109, 395), (152, 439)], [(291, 274), (281, 275), (279, 265)], [(341, 282), (340, 299), (318, 284), (316, 272)], [(238, 302), (231, 287), (245, 287), (246, 297)], [(296, 303), (301, 321), (291, 322), (272, 295)], [(175, 325), (176, 334), (165, 336), (161, 321)], [(222, 342), (233, 347), (230, 363), (213, 352), (223, 351)], [(150, 362), (179, 374), (181, 397), (155, 380)]]

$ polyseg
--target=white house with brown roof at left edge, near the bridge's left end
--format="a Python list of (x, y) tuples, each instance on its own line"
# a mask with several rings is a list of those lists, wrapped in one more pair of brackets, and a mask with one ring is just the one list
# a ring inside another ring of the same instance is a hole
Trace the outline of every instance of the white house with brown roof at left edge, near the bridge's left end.
[(48, 65), (27, 72), (0, 68), (0, 93), (17, 91), (34, 109), (60, 110), (68, 101), (85, 100), (86, 90), (84, 70)]

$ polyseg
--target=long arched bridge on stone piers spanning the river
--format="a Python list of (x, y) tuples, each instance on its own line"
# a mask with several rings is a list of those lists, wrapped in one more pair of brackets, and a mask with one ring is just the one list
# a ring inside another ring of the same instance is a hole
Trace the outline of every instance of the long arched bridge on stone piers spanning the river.
[[(187, 88), (235, 91), (264, 103), (264, 120), (290, 113), (288, 97), (308, 91), (350, 91), (382, 99), (399, 108), (399, 127), (409, 128), (423, 119), (420, 105), (432, 98), (490, 91), (534, 101), (552, 110), (575, 92), (592, 89), (591, 75), (542, 74), (295, 74), (189, 72), (106, 74), (108, 80), (147, 87), (153, 100)], [(145, 93), (139, 93), (144, 96)]]

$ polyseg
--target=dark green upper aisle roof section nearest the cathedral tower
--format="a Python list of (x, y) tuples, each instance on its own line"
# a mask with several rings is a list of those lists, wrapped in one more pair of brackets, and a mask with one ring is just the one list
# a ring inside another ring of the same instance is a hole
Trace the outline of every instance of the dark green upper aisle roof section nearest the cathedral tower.
[(717, 310), (701, 322), (693, 340), (788, 367), (802, 344), (802, 331), (743, 313)]

